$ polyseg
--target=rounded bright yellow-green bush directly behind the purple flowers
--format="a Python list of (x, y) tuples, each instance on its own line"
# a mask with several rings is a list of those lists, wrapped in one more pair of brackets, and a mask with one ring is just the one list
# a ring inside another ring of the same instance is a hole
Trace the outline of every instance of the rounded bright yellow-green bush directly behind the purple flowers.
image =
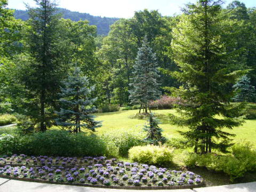
[(129, 158), (134, 162), (170, 165), (173, 163), (173, 149), (165, 146), (136, 146), (129, 150)]

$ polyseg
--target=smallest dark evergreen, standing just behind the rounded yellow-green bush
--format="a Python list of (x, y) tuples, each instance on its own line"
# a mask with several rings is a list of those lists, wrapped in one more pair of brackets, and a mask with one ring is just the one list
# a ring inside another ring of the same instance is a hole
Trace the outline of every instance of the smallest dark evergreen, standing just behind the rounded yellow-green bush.
[(149, 125), (145, 125), (144, 128), (147, 132), (147, 137), (144, 140), (153, 145), (158, 145), (158, 143), (163, 144), (166, 138), (162, 136), (163, 130), (158, 126), (159, 121), (153, 113), (149, 114), (148, 122)]

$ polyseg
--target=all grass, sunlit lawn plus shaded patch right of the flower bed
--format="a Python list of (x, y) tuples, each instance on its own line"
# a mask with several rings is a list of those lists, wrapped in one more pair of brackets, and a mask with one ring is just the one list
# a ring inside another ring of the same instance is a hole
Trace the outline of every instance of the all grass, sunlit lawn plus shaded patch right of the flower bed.
[[(95, 114), (98, 121), (102, 121), (102, 127), (97, 129), (99, 134), (108, 132), (108, 131), (124, 131), (124, 130), (135, 130), (142, 131), (143, 125), (145, 125), (146, 120), (132, 119), (129, 116), (138, 113), (139, 110), (128, 110), (128, 111), (117, 111), (111, 113), (100, 113)], [(175, 125), (170, 125), (168, 122), (168, 114), (175, 114), (175, 110), (154, 110), (155, 113), (159, 115), (159, 119), (162, 122), (159, 126), (164, 130), (163, 134), (168, 135), (169, 137), (181, 137), (178, 130), (185, 130), (186, 128), (179, 128)], [(226, 130), (230, 133), (236, 134), (234, 142), (237, 141), (250, 141), (254, 147), (256, 147), (256, 119), (255, 120), (246, 120), (242, 126), (235, 127), (234, 130)], [(190, 149), (175, 149), (174, 150), (174, 163), (179, 167), (184, 165), (183, 157), (187, 150)], [(122, 161), (129, 161), (127, 158), (121, 158)], [(175, 168), (175, 167), (173, 167)], [(206, 186), (219, 186), (231, 184), (228, 175), (223, 174), (222, 172), (209, 171), (204, 168), (196, 167), (191, 169), (197, 174), (202, 175), (205, 180)], [(256, 181), (255, 172), (248, 172), (244, 175), (243, 178), (235, 180), (233, 183), (241, 182), (252, 182)]]

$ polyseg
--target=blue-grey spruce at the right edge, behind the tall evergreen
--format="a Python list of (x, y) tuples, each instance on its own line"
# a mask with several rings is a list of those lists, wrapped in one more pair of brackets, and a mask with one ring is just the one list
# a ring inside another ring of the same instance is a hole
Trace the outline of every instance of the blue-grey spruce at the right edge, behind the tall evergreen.
[(233, 88), (237, 92), (234, 101), (247, 101), (252, 102), (255, 96), (255, 87), (251, 85), (250, 78), (244, 75)]

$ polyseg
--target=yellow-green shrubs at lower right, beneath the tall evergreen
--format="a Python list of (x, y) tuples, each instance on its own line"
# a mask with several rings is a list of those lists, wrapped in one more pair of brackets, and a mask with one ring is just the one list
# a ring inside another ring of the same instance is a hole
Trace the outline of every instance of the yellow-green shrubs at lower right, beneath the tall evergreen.
[(233, 181), (243, 177), (247, 171), (256, 171), (256, 150), (246, 143), (238, 143), (232, 148), (231, 154), (188, 154), (185, 164), (189, 167), (200, 166), (209, 170), (222, 171)]

